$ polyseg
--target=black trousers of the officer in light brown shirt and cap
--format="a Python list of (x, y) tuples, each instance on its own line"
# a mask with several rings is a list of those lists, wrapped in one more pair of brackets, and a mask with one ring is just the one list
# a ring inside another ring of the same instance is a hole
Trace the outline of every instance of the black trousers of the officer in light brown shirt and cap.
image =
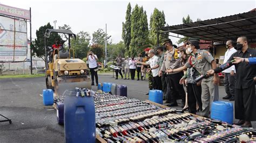
[(167, 75), (167, 78), (166, 78), (167, 102), (177, 103), (177, 97), (182, 99), (183, 102), (185, 102), (185, 91), (184, 91), (183, 85), (179, 84), (179, 80), (181, 77), (182, 77), (181, 73)]

